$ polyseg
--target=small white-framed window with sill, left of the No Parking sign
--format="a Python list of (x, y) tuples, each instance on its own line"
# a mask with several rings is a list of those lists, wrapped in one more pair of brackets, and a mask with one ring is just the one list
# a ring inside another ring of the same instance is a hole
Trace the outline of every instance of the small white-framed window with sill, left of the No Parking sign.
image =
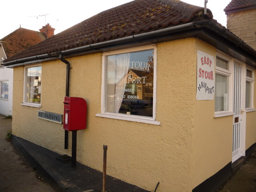
[(42, 66), (25, 68), (23, 105), (40, 107)]

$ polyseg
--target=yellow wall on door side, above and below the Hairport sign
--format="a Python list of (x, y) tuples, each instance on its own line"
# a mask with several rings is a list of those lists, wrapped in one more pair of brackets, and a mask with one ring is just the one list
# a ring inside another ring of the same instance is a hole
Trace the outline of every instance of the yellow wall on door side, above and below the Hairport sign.
[[(216, 48), (201, 40), (196, 49), (216, 58)], [(231, 162), (233, 125), (233, 116), (214, 118), (214, 100), (195, 100), (194, 114), (193, 188)]]

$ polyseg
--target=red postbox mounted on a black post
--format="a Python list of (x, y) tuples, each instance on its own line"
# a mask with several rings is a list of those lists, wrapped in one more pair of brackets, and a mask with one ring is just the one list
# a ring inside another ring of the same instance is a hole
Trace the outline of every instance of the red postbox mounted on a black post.
[(87, 104), (80, 97), (65, 97), (63, 128), (67, 131), (76, 131), (86, 128)]

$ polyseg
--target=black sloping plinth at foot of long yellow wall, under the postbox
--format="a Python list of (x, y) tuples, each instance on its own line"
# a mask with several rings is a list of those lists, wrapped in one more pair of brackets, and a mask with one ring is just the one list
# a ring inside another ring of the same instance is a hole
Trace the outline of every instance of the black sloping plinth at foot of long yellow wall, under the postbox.
[[(102, 172), (79, 162), (76, 163), (76, 168), (72, 168), (70, 161), (60, 162), (58, 160), (63, 155), (17, 136), (12, 136), (12, 144), (37, 174), (44, 178), (56, 192), (100, 192), (102, 190)], [(149, 192), (111, 176), (106, 178), (106, 191)]]

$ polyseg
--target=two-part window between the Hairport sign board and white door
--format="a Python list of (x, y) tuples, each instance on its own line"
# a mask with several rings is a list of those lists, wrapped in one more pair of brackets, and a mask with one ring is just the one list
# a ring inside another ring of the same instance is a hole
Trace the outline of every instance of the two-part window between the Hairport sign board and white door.
[(216, 57), (215, 112), (230, 112), (230, 61)]

